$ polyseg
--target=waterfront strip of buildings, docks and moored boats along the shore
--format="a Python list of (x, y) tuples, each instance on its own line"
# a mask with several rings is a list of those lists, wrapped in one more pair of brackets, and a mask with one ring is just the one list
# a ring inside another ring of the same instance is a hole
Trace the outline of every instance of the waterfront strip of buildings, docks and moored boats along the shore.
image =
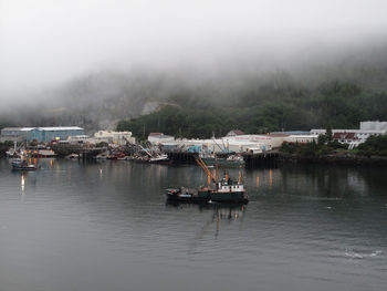
[[(325, 129), (268, 134), (230, 131), (223, 137), (192, 139), (150, 133), (146, 141), (138, 141), (132, 132), (98, 131), (86, 135), (79, 126), (9, 127), (1, 129), (0, 155), (12, 157), (17, 150), (23, 150), (33, 158), (118, 159), (164, 165), (196, 165), (200, 157), (208, 167), (226, 168), (275, 167), (283, 163), (387, 165), (384, 154), (377, 156), (377, 152), (356, 155), (357, 147), (362, 147), (367, 138), (385, 136), (386, 131), (387, 123), (376, 121), (360, 122), (359, 129), (332, 129), (330, 135)], [(322, 142), (326, 136), (330, 142)], [(313, 150), (317, 149), (313, 145), (321, 146), (322, 143), (334, 147), (331, 152), (321, 149), (326, 154), (316, 156)], [(292, 155), (284, 150), (291, 146), (308, 146), (310, 153)]]

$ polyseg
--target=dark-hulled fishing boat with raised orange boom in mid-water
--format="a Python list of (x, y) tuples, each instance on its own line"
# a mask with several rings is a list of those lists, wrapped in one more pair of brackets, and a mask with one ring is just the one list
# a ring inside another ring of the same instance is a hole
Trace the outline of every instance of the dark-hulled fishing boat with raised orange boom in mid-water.
[(208, 186), (199, 188), (197, 193), (196, 190), (191, 193), (181, 190), (185, 189), (184, 187), (180, 189), (167, 189), (168, 199), (180, 199), (181, 201), (197, 202), (198, 198), (201, 198), (201, 201), (203, 202), (249, 202), (249, 197), (245, 194), (244, 185), (242, 183), (242, 176), (240, 173), (238, 180), (232, 180), (229, 177), (228, 172), (224, 172), (224, 177), (220, 179), (218, 175), (218, 166), (216, 176), (213, 176), (200, 157), (198, 157), (196, 162), (206, 173), (208, 177)]

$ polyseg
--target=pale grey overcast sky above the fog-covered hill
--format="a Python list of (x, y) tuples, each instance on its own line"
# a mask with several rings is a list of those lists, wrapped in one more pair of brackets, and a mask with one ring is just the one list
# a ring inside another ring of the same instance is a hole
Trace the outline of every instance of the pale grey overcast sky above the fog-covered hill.
[(377, 0), (0, 0), (0, 100), (105, 67), (278, 65), (380, 38), (386, 11)]

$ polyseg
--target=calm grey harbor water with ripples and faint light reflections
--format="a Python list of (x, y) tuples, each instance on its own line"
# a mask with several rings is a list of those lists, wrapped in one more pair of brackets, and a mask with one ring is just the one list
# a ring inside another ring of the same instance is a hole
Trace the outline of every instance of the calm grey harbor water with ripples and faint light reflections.
[[(0, 159), (0, 290), (386, 290), (387, 170), (243, 170), (245, 207), (167, 205), (195, 166)], [(231, 172), (238, 175), (238, 172)]]

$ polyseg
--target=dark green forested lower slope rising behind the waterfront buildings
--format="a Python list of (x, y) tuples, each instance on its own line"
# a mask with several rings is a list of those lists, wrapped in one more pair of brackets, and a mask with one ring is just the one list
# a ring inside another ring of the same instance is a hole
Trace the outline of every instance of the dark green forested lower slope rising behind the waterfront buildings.
[(230, 129), (245, 133), (326, 127), (357, 128), (360, 121), (387, 119), (387, 94), (343, 81), (307, 89), (295, 83), (266, 83), (254, 90), (213, 97), (211, 93), (181, 92), (161, 110), (121, 121), (119, 131), (139, 138), (149, 132), (175, 136), (222, 136)]

